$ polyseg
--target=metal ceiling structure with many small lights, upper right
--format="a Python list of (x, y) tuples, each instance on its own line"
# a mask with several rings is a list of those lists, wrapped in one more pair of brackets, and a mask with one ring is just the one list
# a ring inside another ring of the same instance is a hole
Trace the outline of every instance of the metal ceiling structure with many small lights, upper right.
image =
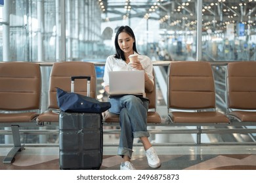
[[(166, 29), (196, 29), (196, 0), (98, 0), (104, 21), (124, 18), (148, 18), (160, 21)], [(227, 24), (243, 23), (256, 26), (256, 0), (203, 0), (203, 30), (226, 29)]]

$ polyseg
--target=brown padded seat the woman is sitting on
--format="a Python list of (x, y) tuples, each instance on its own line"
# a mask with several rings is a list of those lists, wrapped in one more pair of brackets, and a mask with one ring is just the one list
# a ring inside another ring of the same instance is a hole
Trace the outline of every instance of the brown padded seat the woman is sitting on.
[[(146, 91), (146, 97), (150, 99), (150, 103), (148, 105), (148, 108), (152, 111), (148, 111), (147, 115), (147, 123), (148, 124), (160, 124), (161, 123), (161, 117), (158, 112), (156, 112), (156, 79), (154, 77), (154, 89), (152, 92)], [(103, 113), (103, 120), (106, 123), (119, 123), (119, 115), (113, 114), (111, 112)]]

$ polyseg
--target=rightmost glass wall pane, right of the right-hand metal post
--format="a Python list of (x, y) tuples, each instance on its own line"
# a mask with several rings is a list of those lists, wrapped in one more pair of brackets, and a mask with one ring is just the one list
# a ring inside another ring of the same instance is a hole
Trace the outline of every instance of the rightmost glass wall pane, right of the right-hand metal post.
[(203, 1), (203, 56), (213, 61), (256, 60), (255, 5), (249, 1)]

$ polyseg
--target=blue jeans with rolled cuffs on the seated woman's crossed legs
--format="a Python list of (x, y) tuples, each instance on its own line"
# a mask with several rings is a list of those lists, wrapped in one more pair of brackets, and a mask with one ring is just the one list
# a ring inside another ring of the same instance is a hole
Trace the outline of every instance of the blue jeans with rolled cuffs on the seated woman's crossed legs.
[(146, 125), (148, 101), (135, 95), (110, 98), (110, 112), (119, 114), (121, 134), (117, 154), (129, 156), (133, 154), (133, 139), (149, 137)]

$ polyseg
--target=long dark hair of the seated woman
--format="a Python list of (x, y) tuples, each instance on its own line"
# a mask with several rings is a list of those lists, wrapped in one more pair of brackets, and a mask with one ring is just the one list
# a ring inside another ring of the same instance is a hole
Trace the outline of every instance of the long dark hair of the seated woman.
[(115, 38), (115, 46), (116, 46), (115, 58), (121, 58), (125, 61), (125, 54), (123, 53), (123, 50), (121, 50), (121, 48), (118, 45), (118, 35), (119, 35), (119, 33), (122, 33), (122, 32), (129, 34), (134, 39), (133, 51), (137, 52), (137, 48), (136, 48), (136, 41), (135, 41), (135, 35), (133, 33), (133, 29), (131, 29), (131, 27), (129, 27), (127, 25), (119, 27), (119, 29), (116, 32), (116, 38)]

